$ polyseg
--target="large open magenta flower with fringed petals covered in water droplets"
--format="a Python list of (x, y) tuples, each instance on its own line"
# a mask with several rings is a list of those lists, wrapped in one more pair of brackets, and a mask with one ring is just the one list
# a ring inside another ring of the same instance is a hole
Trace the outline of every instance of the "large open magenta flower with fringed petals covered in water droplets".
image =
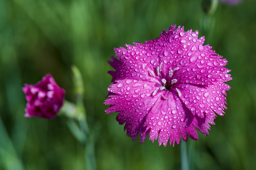
[(216, 114), (223, 115), (226, 92), (224, 82), (232, 78), (222, 59), (211, 46), (203, 45), (198, 31), (184, 32), (184, 27), (170, 26), (159, 38), (144, 44), (125, 44), (115, 48), (118, 59), (109, 64), (116, 71), (104, 104), (107, 113), (120, 112), (116, 120), (124, 124), (133, 141), (140, 133), (140, 142), (148, 134), (165, 146), (198, 139), (195, 127), (208, 135), (209, 124)]

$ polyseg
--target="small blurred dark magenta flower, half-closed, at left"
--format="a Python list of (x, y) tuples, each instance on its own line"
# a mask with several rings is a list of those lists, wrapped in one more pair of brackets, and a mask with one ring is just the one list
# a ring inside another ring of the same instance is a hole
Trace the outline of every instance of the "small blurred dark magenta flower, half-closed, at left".
[(44, 76), (36, 85), (25, 84), (22, 90), (28, 101), (25, 117), (54, 118), (64, 102), (65, 91), (50, 74)]

